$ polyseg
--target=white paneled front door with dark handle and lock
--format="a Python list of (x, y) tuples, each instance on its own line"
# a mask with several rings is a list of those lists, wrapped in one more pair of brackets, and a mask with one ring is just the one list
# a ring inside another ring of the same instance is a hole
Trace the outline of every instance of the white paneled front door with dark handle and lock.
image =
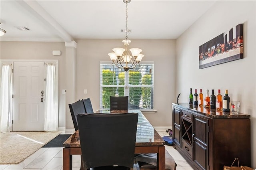
[(43, 131), (44, 62), (14, 62), (13, 69), (13, 131)]

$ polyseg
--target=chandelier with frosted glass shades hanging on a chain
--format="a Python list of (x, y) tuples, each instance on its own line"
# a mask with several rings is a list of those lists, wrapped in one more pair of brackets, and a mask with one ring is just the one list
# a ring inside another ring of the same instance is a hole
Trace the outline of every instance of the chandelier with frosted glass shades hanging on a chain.
[(140, 67), (140, 61), (142, 57), (144, 57), (143, 54), (140, 54), (142, 49), (139, 48), (131, 48), (128, 49), (128, 45), (131, 43), (130, 40), (128, 40), (128, 28), (127, 28), (127, 19), (128, 19), (128, 12), (127, 12), (127, 6), (128, 3), (131, 2), (131, 0), (123, 0), (124, 3), (126, 3), (126, 30), (125, 30), (125, 40), (122, 41), (124, 43), (124, 48), (113, 48), (112, 50), (114, 52), (108, 53), (110, 59), (112, 60), (112, 65), (116, 65), (116, 67), (124, 69), (124, 71), (128, 71), (129, 69), (133, 69), (136, 66)]

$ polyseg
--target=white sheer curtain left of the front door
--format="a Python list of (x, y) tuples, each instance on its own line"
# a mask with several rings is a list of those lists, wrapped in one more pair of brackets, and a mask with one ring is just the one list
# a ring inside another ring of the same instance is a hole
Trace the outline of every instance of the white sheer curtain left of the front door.
[(12, 64), (3, 64), (0, 90), (0, 131), (10, 132), (12, 113)]

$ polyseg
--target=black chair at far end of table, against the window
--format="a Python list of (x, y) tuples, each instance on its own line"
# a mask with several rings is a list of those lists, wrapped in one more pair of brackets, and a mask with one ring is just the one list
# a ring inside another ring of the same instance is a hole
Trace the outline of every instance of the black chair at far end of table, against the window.
[(128, 110), (128, 96), (110, 96), (110, 111)]

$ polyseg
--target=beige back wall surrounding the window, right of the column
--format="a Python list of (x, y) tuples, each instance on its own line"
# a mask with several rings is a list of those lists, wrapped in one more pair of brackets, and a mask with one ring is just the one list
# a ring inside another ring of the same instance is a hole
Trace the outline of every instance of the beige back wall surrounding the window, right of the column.
[[(175, 40), (131, 40), (129, 48), (138, 47), (145, 56), (142, 61), (154, 61), (154, 109), (144, 113), (153, 126), (171, 126), (172, 102), (175, 94)], [(76, 97), (89, 97), (92, 107), (100, 109), (100, 61), (110, 61), (108, 53), (123, 47), (122, 40), (76, 40)], [(84, 94), (87, 89), (87, 94)]]

